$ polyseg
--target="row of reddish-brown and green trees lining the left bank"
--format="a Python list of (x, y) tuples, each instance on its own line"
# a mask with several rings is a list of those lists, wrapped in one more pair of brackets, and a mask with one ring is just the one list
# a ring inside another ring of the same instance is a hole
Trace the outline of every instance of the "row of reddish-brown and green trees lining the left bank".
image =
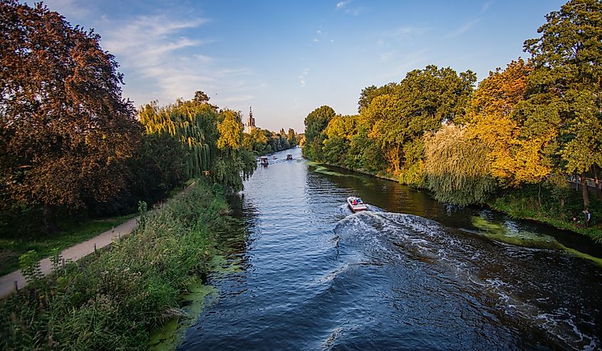
[(199, 91), (137, 120), (100, 36), (41, 3), (1, 1), (0, 32), (0, 226), (41, 214), (56, 231), (57, 215), (120, 214), (190, 178), (239, 190), (253, 173), (239, 112)]

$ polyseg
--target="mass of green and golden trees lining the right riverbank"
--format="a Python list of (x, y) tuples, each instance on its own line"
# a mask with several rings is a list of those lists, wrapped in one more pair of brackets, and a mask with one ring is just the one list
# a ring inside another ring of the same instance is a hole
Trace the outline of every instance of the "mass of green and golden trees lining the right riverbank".
[[(358, 115), (316, 108), (304, 156), (602, 241), (602, 3), (571, 0), (546, 19), (524, 42), (531, 58), (476, 89), (472, 71), (430, 65), (363, 89)], [(596, 190), (570, 189), (569, 174)]]

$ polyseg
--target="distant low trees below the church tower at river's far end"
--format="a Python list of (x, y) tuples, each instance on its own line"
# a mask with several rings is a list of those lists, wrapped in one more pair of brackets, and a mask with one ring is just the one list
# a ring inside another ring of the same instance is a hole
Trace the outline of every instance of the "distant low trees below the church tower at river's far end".
[(277, 133), (256, 128), (244, 134), (244, 146), (255, 156), (296, 147), (299, 145), (298, 140), (299, 135), (295, 133), (293, 128), (289, 128), (289, 132), (284, 132), (284, 128), (281, 128), (280, 132)]

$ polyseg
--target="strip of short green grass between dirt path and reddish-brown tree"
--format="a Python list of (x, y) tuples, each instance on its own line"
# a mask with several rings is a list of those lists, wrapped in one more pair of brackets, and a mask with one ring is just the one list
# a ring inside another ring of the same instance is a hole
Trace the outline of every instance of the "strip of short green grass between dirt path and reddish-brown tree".
[(31, 239), (23, 236), (19, 239), (0, 238), (0, 276), (19, 269), (19, 256), (27, 251), (36, 251), (39, 256), (46, 258), (51, 256), (53, 249), (63, 251), (104, 231), (108, 231), (135, 216), (137, 214), (108, 219), (85, 219), (84, 221), (63, 219), (58, 222), (58, 227), (63, 230), (61, 233), (52, 236), (38, 236), (37, 238), (33, 236)]

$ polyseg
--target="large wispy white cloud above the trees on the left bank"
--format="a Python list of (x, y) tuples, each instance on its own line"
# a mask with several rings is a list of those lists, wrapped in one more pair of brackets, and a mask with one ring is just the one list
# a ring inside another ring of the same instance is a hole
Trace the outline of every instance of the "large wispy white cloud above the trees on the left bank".
[[(209, 19), (200, 16), (165, 12), (119, 21), (103, 19), (102, 46), (128, 72), (126, 83), (145, 82), (145, 92), (129, 95), (137, 105), (147, 103), (137, 100), (138, 96), (151, 95), (160, 103), (172, 103), (177, 98), (191, 98), (196, 90), (204, 90), (216, 103), (249, 100), (252, 96), (249, 90), (254, 84), (249, 78), (253, 72), (248, 68), (223, 66), (204, 49), (214, 40), (187, 35), (192, 30), (199, 31), (207, 22)], [(124, 96), (128, 93), (126, 85)]]

